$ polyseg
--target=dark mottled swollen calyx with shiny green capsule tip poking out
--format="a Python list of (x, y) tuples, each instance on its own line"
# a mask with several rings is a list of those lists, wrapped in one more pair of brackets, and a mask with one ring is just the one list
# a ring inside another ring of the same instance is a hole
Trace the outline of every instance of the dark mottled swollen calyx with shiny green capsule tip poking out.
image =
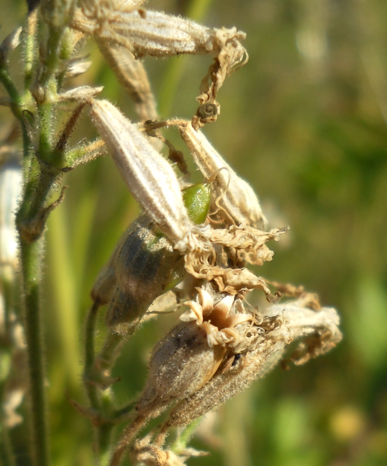
[[(193, 185), (182, 194), (190, 219), (203, 223), (211, 202), (209, 185)], [(183, 256), (149, 216), (141, 214), (99, 274), (92, 298), (101, 304), (110, 302), (106, 324), (125, 334), (135, 328), (154, 299), (176, 286), (184, 274)]]

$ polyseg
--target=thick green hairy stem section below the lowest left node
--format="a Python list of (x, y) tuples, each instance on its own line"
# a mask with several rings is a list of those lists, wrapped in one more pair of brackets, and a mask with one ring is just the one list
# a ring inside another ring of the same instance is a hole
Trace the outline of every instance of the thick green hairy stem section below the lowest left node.
[(21, 238), (25, 300), (25, 332), (30, 373), (32, 453), (35, 466), (48, 466), (46, 403), (44, 390), (43, 342), (40, 316), (39, 285), (43, 238), (27, 242)]

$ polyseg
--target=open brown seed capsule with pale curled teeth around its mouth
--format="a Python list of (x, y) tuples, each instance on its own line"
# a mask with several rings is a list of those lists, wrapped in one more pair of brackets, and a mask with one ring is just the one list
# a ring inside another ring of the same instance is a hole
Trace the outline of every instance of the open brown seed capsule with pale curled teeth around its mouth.
[(199, 289), (198, 301), (185, 303), (189, 310), (180, 316), (182, 322), (155, 346), (136, 405), (141, 415), (157, 416), (172, 401), (196, 393), (211, 380), (227, 351), (239, 353), (245, 349), (245, 335), (252, 337), (251, 316), (235, 312), (235, 296), (213, 296), (209, 290)]

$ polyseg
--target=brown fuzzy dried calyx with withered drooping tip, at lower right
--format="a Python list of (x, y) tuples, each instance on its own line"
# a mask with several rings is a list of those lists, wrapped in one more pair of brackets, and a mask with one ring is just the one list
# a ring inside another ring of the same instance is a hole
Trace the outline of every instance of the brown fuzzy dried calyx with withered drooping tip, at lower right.
[[(269, 307), (259, 325), (261, 334), (244, 353), (230, 355), (214, 377), (198, 392), (177, 403), (164, 426), (187, 425), (267, 374), (281, 359), (286, 346), (305, 339), (293, 360), (303, 364), (332, 349), (342, 338), (339, 317), (333, 308), (318, 312), (299, 307), (297, 301)], [(313, 344), (311, 344), (311, 342)], [(231, 363), (231, 364), (230, 364)]]

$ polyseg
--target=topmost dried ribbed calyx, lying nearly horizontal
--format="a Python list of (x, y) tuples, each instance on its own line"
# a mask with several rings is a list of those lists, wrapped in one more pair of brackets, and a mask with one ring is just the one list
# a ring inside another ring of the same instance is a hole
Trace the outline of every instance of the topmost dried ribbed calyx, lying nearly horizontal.
[(239, 44), (238, 39), (245, 37), (235, 28), (213, 29), (178, 16), (118, 2), (83, 5), (76, 10), (72, 27), (100, 40), (123, 45), (137, 57), (217, 54), (226, 41)]

